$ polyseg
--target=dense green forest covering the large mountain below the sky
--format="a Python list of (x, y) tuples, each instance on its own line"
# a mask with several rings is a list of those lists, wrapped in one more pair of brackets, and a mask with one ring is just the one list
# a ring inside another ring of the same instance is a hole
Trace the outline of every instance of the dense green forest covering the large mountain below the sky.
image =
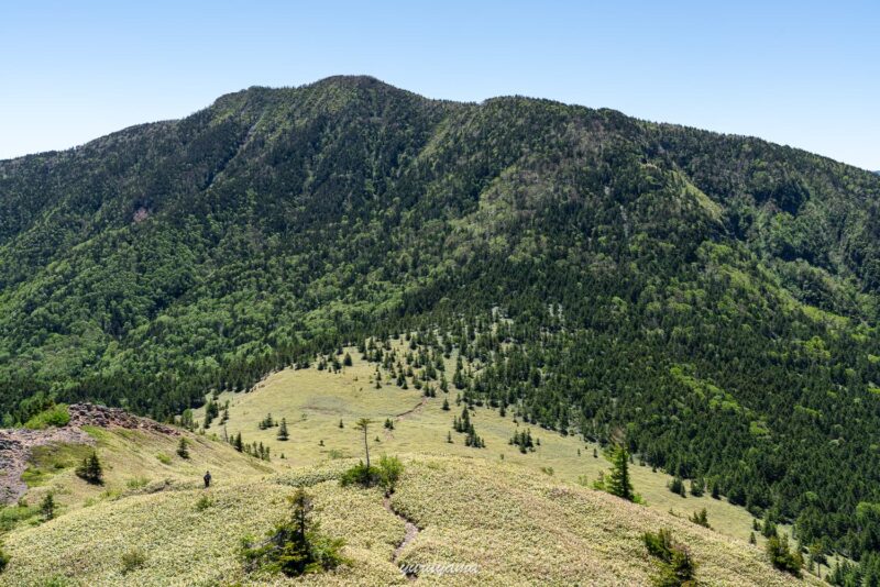
[(251, 88), (0, 162), (0, 414), (168, 419), (437, 330), (487, 365), (469, 401), (622, 441), (857, 582), (880, 567), (878, 202), (875, 174), (612, 110)]

